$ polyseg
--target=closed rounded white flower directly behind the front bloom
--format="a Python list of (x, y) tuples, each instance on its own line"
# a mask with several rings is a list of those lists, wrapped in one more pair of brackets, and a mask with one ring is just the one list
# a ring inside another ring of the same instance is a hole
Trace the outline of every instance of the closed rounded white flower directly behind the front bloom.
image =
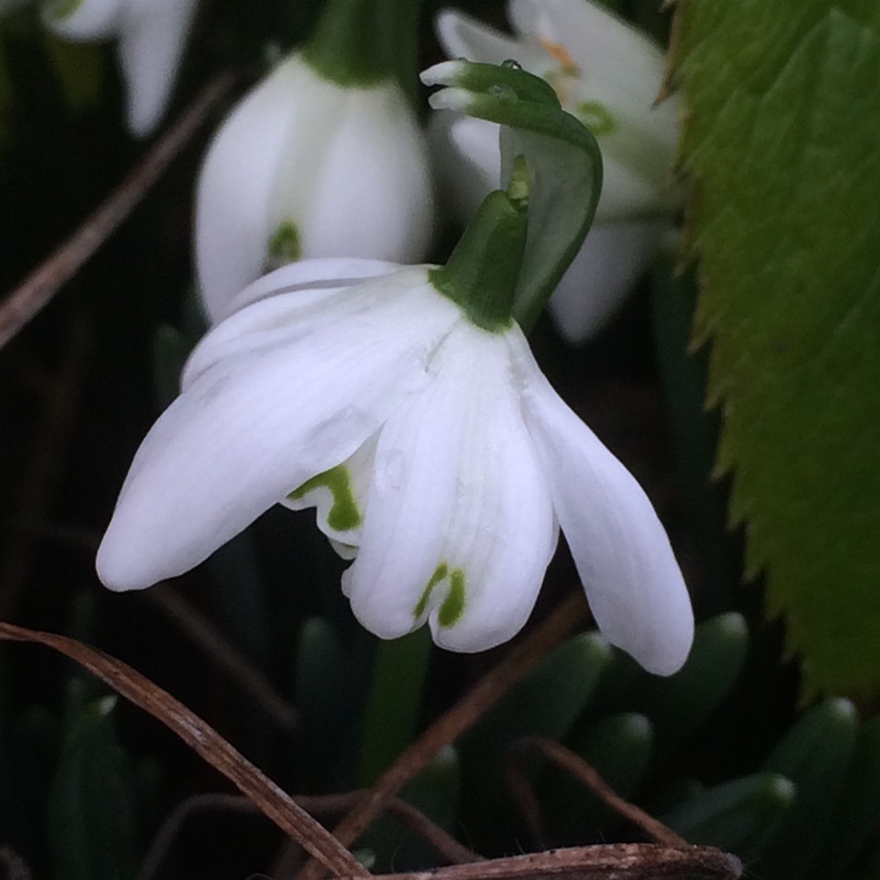
[(414, 263), (433, 224), (427, 144), (391, 79), (341, 86), (299, 54), (258, 85), (208, 152), (196, 263), (209, 317), (300, 257)]

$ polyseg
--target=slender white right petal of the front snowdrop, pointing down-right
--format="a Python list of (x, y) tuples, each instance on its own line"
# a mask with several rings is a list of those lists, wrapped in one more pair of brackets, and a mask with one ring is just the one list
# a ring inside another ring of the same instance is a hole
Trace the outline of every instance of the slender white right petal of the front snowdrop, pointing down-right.
[(632, 475), (571, 411), (524, 340), (522, 411), (593, 615), (649, 672), (681, 668), (693, 640), (688, 590), (663, 526)]

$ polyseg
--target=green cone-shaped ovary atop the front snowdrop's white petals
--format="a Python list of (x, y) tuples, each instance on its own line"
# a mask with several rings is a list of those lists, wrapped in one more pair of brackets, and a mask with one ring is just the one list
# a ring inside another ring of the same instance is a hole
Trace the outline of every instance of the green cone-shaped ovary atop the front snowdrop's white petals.
[(513, 322), (512, 309), (528, 228), (522, 178), (516, 198), (490, 193), (444, 266), (431, 270), (431, 284), (460, 306), (470, 320), (492, 333)]

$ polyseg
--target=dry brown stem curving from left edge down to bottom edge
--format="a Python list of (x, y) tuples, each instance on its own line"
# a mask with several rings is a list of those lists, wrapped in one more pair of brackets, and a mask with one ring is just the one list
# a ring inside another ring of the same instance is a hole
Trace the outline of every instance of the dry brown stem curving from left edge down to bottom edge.
[(344, 846), (217, 730), (127, 663), (76, 639), (12, 624), (0, 623), (0, 638), (45, 645), (75, 660), (177, 734), (327, 869), (337, 876), (370, 877)]

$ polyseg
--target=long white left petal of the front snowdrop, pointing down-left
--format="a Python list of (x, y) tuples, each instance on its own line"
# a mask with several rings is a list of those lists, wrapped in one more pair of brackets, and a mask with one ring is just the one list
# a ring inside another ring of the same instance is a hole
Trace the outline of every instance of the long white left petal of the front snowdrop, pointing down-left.
[(384, 293), (376, 282), (372, 310), (296, 344), (273, 337), (229, 352), (191, 380), (134, 458), (98, 552), (108, 586), (148, 586), (201, 562), (348, 459), (425, 381), (460, 312), (430, 287)]

